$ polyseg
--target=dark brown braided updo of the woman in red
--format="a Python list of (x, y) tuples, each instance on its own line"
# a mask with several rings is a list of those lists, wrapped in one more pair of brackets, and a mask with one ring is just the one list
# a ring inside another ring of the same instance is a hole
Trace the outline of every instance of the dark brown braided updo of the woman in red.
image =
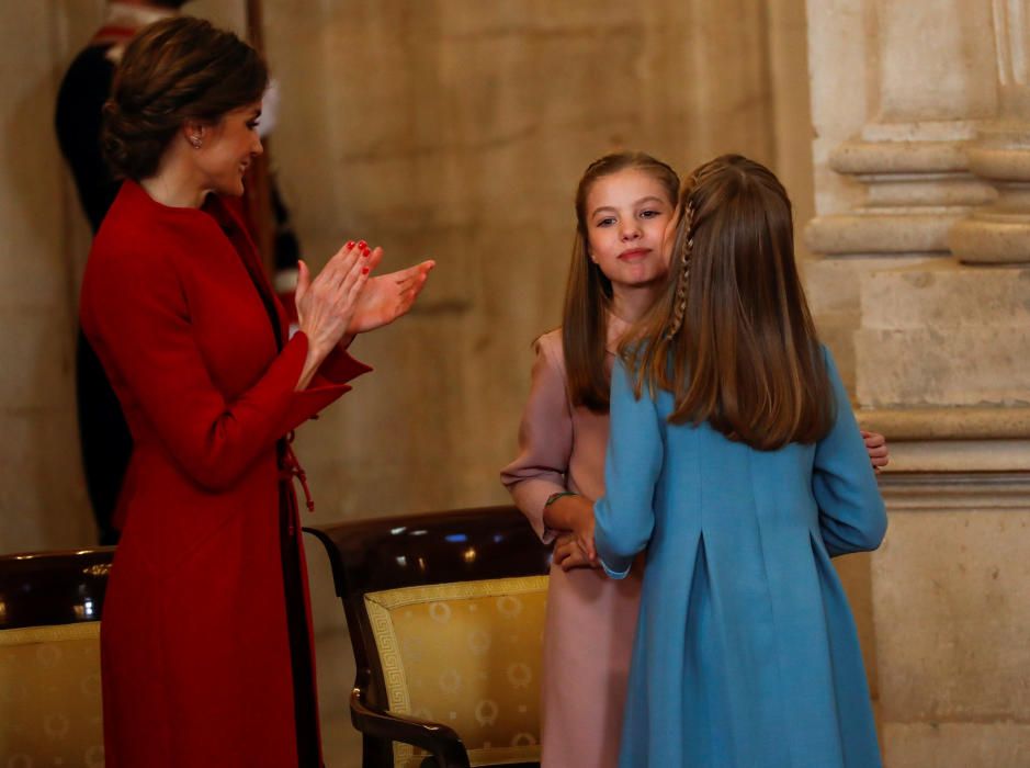
[(268, 68), (257, 50), (203, 19), (145, 26), (125, 48), (104, 104), (104, 156), (117, 178), (154, 176), (186, 121), (214, 125), (259, 101)]

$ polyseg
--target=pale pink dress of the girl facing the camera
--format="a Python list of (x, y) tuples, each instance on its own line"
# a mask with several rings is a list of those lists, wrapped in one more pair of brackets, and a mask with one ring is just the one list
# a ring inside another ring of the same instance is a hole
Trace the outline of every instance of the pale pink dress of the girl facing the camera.
[[(608, 368), (625, 331), (609, 315)], [(519, 456), (501, 481), (537, 535), (548, 542), (544, 502), (559, 490), (593, 500), (604, 493), (608, 415), (574, 408), (565, 383), (562, 331), (536, 343)], [(641, 563), (621, 581), (602, 571), (551, 568), (544, 630), (542, 768), (615, 768), (639, 608)]]

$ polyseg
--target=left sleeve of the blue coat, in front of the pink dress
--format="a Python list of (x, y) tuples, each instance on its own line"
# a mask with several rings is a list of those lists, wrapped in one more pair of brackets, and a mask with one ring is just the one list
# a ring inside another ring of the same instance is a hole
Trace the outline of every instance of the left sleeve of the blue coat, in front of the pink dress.
[(661, 421), (654, 400), (636, 399), (621, 360), (612, 370), (611, 431), (604, 462), (604, 496), (593, 505), (595, 540), (604, 572), (630, 573), (634, 556), (655, 528), (655, 485), (665, 458)]

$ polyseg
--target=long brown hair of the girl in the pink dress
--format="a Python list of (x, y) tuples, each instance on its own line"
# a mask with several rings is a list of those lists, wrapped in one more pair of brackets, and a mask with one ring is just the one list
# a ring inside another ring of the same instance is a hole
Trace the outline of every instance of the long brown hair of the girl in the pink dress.
[(608, 341), (608, 312), (612, 301), (611, 281), (590, 259), (587, 238), (587, 195), (599, 179), (623, 170), (650, 173), (661, 183), (675, 205), (679, 177), (669, 166), (644, 153), (605, 155), (590, 163), (576, 189), (576, 238), (565, 285), (562, 313), (562, 346), (568, 395), (574, 406), (603, 414), (608, 411), (611, 386), (604, 366)]

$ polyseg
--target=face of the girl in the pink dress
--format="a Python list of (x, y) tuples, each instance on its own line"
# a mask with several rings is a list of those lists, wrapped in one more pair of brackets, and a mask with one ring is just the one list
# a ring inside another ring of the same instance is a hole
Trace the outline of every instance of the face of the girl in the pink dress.
[(646, 171), (627, 168), (593, 182), (586, 205), (589, 257), (613, 289), (665, 280), (674, 210), (665, 187)]

